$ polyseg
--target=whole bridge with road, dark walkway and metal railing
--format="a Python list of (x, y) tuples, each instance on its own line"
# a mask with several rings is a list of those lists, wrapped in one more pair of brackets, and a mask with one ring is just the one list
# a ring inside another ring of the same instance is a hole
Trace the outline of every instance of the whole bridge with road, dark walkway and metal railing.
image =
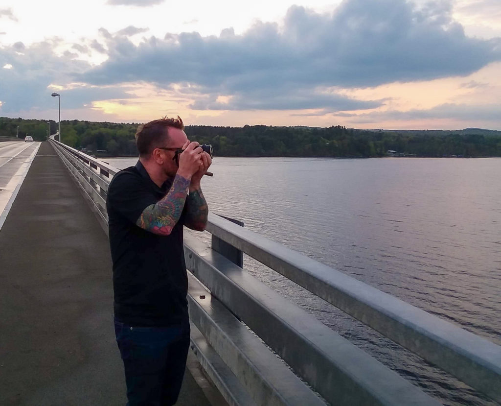
[[(124, 404), (105, 203), (118, 169), (54, 139), (23, 148), (0, 161), (0, 179), (12, 175), (0, 183), (0, 404)], [(207, 230), (210, 245), (185, 236), (178, 404), (440, 404), (245, 272), (242, 253), (501, 402), (501, 347), (212, 213)]]

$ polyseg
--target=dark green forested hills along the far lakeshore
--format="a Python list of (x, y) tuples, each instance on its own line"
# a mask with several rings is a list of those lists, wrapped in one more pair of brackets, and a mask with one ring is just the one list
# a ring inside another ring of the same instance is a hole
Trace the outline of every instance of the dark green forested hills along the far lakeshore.
[[(139, 124), (91, 121), (62, 121), (63, 142), (97, 155), (137, 156), (134, 134)], [(45, 140), (49, 129), (46, 120), (0, 117), (0, 136), (27, 134)], [(51, 134), (57, 122), (51, 120)], [(405, 155), (501, 156), (501, 131), (470, 128), (456, 131), (356, 130), (342, 126), (243, 127), (187, 126), (190, 140), (212, 144), (217, 156), (304, 156), (369, 157), (385, 156), (388, 150)]]

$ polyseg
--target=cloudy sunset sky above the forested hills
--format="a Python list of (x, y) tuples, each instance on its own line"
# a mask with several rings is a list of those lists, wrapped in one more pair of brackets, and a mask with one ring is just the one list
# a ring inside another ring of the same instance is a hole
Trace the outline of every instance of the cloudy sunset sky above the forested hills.
[(0, 116), (501, 130), (500, 0), (0, 0)]

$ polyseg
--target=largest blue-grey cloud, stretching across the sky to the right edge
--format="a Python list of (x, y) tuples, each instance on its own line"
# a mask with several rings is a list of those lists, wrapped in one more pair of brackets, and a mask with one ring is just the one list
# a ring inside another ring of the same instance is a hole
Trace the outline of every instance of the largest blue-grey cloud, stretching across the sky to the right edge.
[(449, 2), (346, 0), (332, 14), (293, 6), (282, 25), (257, 22), (242, 35), (168, 33), (135, 45), (105, 32), (108, 60), (77, 79), (177, 84), (199, 109), (373, 108), (325, 89), (466, 76), (501, 60), (501, 39), (466, 37), (451, 13)]

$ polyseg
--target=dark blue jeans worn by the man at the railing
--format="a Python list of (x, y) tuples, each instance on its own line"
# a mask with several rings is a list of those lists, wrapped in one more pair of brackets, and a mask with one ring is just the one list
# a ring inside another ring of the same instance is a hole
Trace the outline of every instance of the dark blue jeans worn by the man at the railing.
[(126, 406), (170, 406), (181, 389), (190, 343), (189, 324), (135, 327), (115, 320), (124, 362)]

